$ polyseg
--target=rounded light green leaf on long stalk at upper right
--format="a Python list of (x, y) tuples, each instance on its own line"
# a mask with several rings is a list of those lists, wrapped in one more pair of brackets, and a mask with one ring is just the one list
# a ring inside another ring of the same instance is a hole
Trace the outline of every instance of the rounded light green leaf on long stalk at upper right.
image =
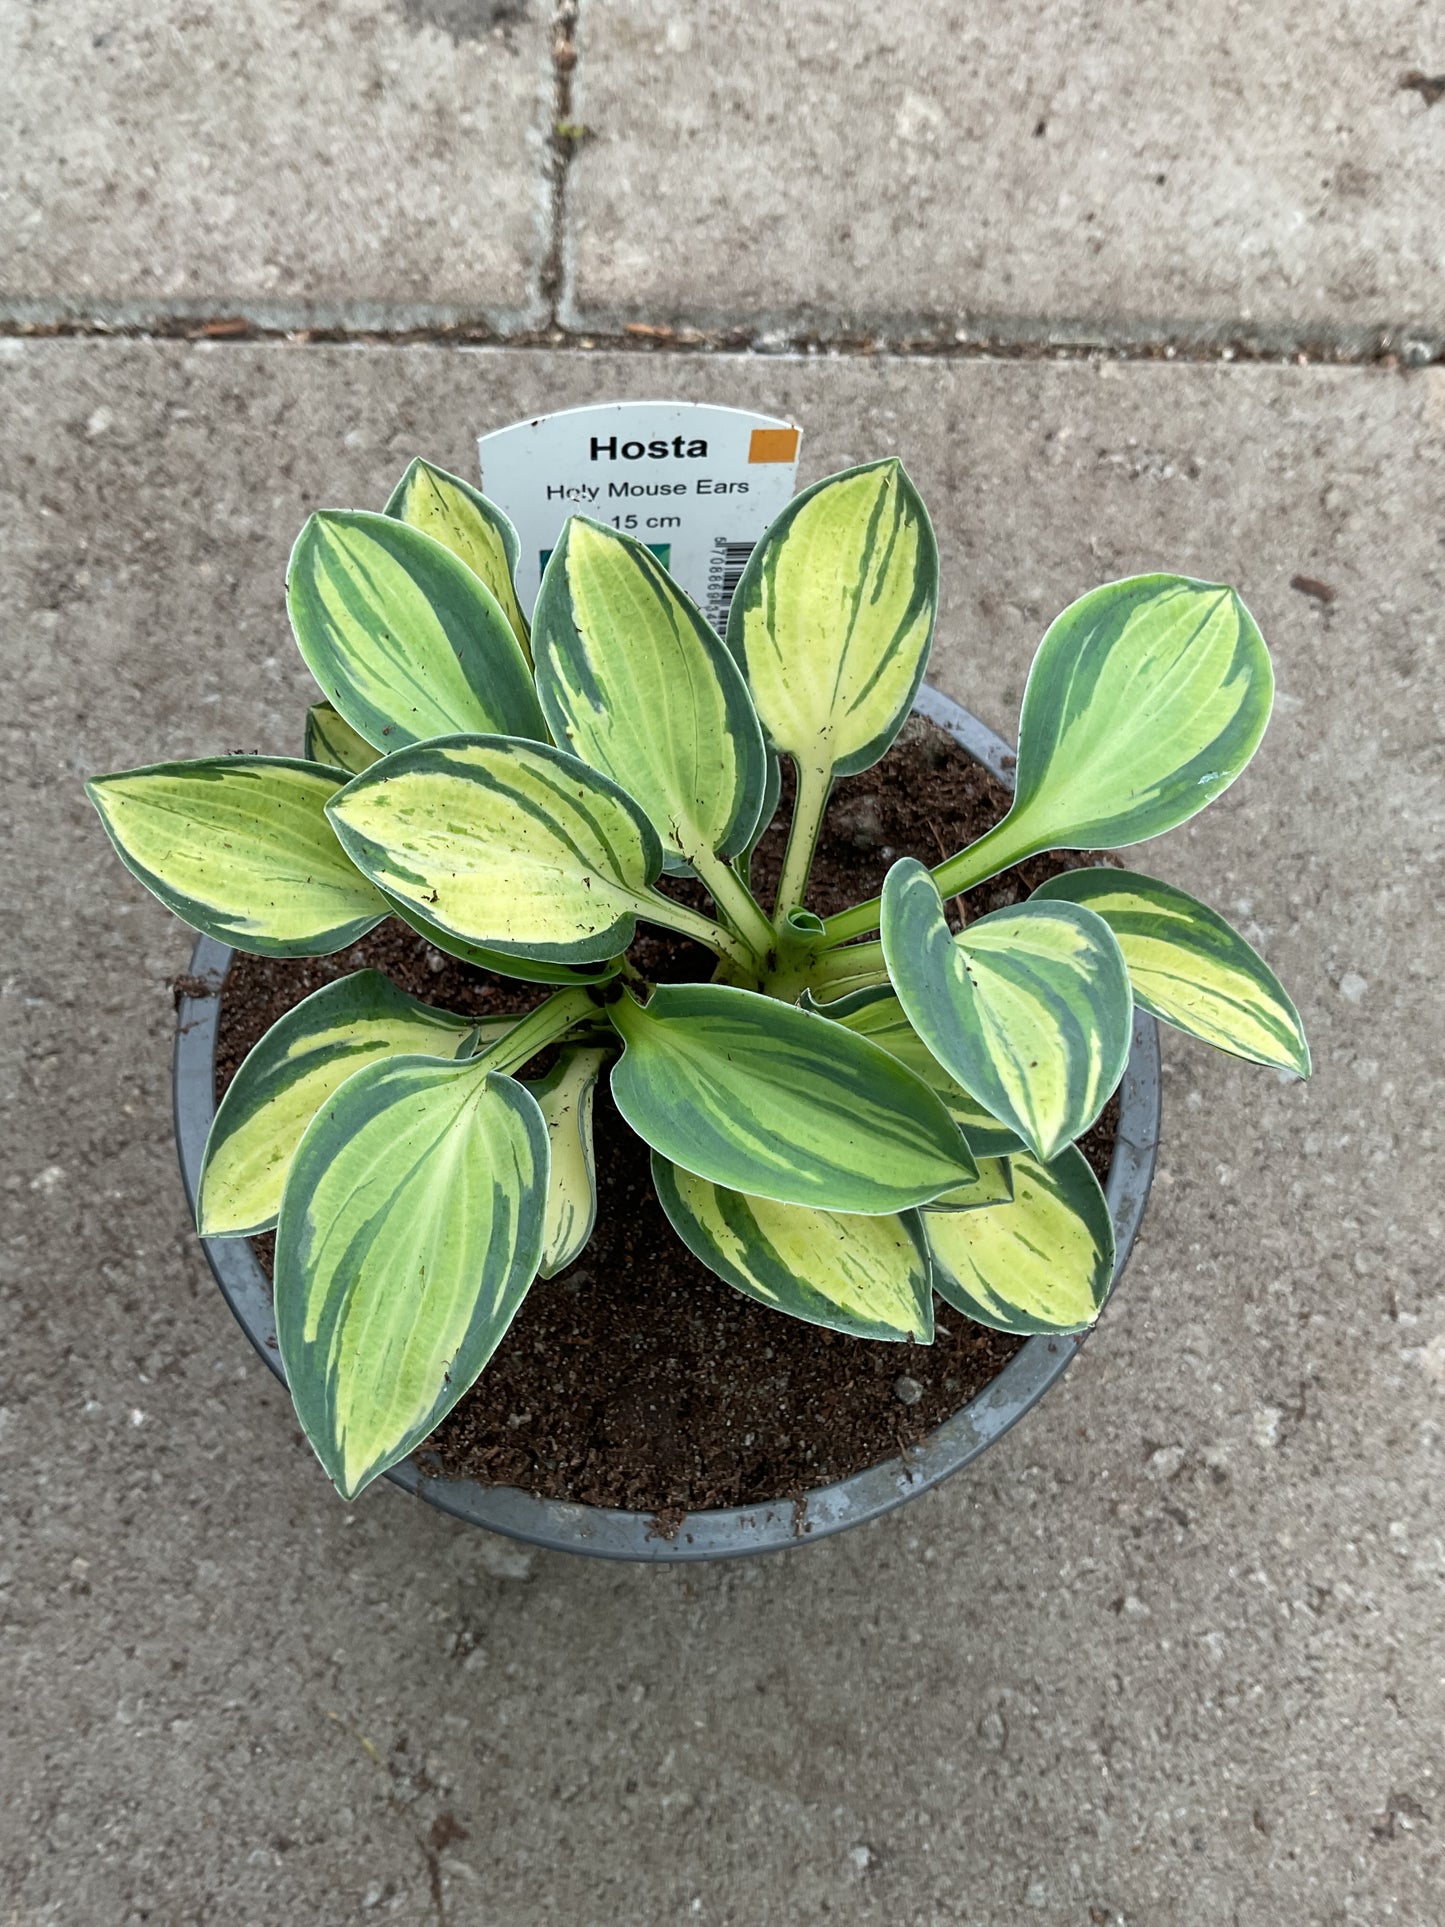
[(1071, 603), (1023, 692), (1013, 805), (938, 869), (944, 896), (1037, 850), (1116, 850), (1185, 823), (1254, 755), (1274, 669), (1231, 588), (1131, 576)]

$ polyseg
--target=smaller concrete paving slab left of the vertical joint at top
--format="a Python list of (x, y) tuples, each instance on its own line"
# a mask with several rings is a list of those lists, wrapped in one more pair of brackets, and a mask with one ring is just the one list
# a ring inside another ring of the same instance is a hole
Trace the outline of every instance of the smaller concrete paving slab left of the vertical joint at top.
[(0, 0), (0, 306), (532, 316), (545, 0)]

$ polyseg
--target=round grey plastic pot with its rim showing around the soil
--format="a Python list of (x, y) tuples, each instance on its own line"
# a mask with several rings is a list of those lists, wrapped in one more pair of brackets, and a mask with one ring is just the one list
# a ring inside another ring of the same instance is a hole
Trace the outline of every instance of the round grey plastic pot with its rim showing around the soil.
[[(915, 709), (940, 723), (979, 763), (1010, 788), (1013, 753), (1002, 736), (979, 723), (938, 690), (923, 688)], [(216, 1031), (222, 987), (233, 952), (202, 937), (191, 956), (193, 977), (214, 985), (204, 996), (181, 1000), (175, 1033), (175, 1139), (181, 1152), (185, 1195), (195, 1208), (200, 1154), (216, 1114)], [(1114, 1214), (1117, 1260), (1114, 1287), (1129, 1260), (1129, 1251), (1144, 1216), (1160, 1135), (1160, 1044), (1152, 1017), (1135, 1012), (1129, 1066), (1123, 1073), (1119, 1133), (1104, 1195)], [(285, 1378), (276, 1347), (272, 1287), (245, 1239), (206, 1239), (206, 1258), (235, 1312), (241, 1330), (277, 1378)], [(1114, 1289), (1112, 1287), (1112, 1289)], [(428, 1505), (453, 1513), (489, 1532), (547, 1545), (553, 1551), (588, 1553), (595, 1559), (736, 1559), (744, 1553), (780, 1551), (825, 1540), (848, 1526), (890, 1513), (921, 1491), (961, 1470), (986, 1451), (1035, 1407), (1067, 1370), (1079, 1341), (1073, 1337), (1031, 1337), (975, 1399), (954, 1412), (923, 1445), (906, 1459), (888, 1459), (855, 1472), (836, 1486), (807, 1493), (800, 1509), (792, 1499), (732, 1511), (690, 1513), (672, 1538), (661, 1538), (647, 1513), (618, 1513), (597, 1505), (566, 1505), (538, 1499), (511, 1486), (480, 1486), (476, 1480), (434, 1478), (414, 1459), (387, 1472), (387, 1478)]]

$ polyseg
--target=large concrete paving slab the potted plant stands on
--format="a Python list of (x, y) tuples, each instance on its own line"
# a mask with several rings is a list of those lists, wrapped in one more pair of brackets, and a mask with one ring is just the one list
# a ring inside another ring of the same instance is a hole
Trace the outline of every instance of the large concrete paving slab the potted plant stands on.
[[(1445, 376), (4, 347), (0, 1921), (1432, 1927)], [(1064, 1386), (736, 1567), (329, 1493), (185, 1224), (187, 935), (79, 788), (297, 744), (310, 507), (628, 393), (796, 412), (809, 476), (900, 451), (936, 680), (1000, 726), (1081, 590), (1235, 580), (1275, 723), (1143, 859), (1266, 948), (1318, 1064), (1169, 1039), (1144, 1237)]]

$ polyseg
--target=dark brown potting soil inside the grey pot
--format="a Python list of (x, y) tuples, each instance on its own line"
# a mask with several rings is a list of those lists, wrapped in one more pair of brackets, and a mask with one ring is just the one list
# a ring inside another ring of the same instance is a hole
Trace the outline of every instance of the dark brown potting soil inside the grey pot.
[[(809, 886), (821, 915), (875, 896), (900, 856), (936, 863), (1008, 809), (1008, 790), (933, 723), (909, 721), (888, 755), (840, 784)], [(759, 844), (757, 894), (782, 861), (780, 823)], [(1052, 854), (967, 896), (967, 915), (1023, 900), (1096, 858)], [(696, 886), (670, 884), (686, 896)], [(684, 938), (644, 931), (632, 950), (655, 981), (709, 977)], [(468, 1016), (526, 1010), (545, 990), (474, 971), (401, 923), (335, 958), (237, 956), (222, 1000), (216, 1093), (293, 1004), (374, 965), (430, 1004)], [(1083, 1141), (1100, 1179), (1117, 1098)], [(844, 1337), (771, 1312), (715, 1278), (674, 1237), (653, 1195), (647, 1147), (597, 1091), (597, 1229), (566, 1272), (538, 1280), (491, 1364), (428, 1441), (453, 1478), (657, 1513), (801, 1497), (919, 1443), (1019, 1349), (936, 1303), (933, 1345)], [(272, 1239), (256, 1239), (270, 1274)]]

